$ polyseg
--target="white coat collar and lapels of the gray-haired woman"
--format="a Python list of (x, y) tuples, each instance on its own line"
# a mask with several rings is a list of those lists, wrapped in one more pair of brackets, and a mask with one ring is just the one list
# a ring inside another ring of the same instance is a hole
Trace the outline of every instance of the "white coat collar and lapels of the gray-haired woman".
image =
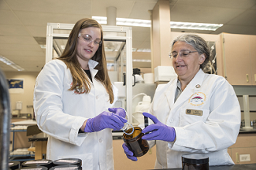
[(184, 103), (184, 101), (188, 100), (189, 97), (191, 97), (192, 94), (195, 93), (195, 91), (199, 91), (200, 87), (202, 86), (202, 81), (204, 79), (205, 73), (202, 71), (202, 69), (199, 69), (199, 71), (196, 73), (195, 77), (191, 80), (190, 83), (187, 84), (187, 87), (184, 89), (184, 91), (180, 94), (180, 97), (177, 98), (176, 102), (174, 103), (175, 93), (176, 93), (176, 87), (177, 87), (177, 79), (174, 81), (173, 86), (174, 87), (171, 90), (171, 97), (168, 98), (169, 107), (175, 108), (179, 106), (180, 104)]

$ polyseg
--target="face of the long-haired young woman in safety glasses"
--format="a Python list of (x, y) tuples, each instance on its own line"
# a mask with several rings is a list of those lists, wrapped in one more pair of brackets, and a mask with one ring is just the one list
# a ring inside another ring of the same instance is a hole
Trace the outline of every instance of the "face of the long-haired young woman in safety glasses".
[(95, 42), (101, 39), (101, 29), (95, 27), (83, 28), (80, 30), (80, 34), (90, 35), (92, 40), (91, 42), (87, 42), (82, 36), (77, 39), (76, 57), (82, 68), (86, 68), (88, 61), (98, 50), (99, 44), (96, 44)]

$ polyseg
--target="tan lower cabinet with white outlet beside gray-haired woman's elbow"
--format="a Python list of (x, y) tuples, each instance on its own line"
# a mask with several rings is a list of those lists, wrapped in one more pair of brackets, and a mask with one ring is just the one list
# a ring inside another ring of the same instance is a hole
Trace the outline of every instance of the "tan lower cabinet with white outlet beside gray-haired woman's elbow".
[(236, 143), (228, 148), (235, 164), (256, 163), (256, 134), (239, 134)]

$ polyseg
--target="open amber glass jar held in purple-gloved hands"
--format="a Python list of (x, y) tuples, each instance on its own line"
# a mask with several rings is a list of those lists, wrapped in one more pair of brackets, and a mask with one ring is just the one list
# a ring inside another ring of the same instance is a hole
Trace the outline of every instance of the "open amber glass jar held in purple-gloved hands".
[(125, 131), (127, 134), (124, 133), (123, 135), (126, 146), (128, 146), (129, 150), (133, 152), (135, 157), (143, 156), (150, 149), (147, 140), (141, 139), (144, 135), (141, 131), (142, 129), (140, 127), (134, 127), (133, 133), (131, 135), (127, 135), (132, 132), (132, 128), (129, 128)]

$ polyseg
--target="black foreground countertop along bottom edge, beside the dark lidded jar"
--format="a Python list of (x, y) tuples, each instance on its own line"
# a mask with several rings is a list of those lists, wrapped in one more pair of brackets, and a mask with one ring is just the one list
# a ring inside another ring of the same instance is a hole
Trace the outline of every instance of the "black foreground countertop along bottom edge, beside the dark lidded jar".
[[(255, 170), (256, 164), (234, 164), (231, 166), (210, 166), (209, 170)], [(160, 169), (159, 169), (160, 170)], [(182, 168), (165, 168), (165, 170), (182, 170)]]

